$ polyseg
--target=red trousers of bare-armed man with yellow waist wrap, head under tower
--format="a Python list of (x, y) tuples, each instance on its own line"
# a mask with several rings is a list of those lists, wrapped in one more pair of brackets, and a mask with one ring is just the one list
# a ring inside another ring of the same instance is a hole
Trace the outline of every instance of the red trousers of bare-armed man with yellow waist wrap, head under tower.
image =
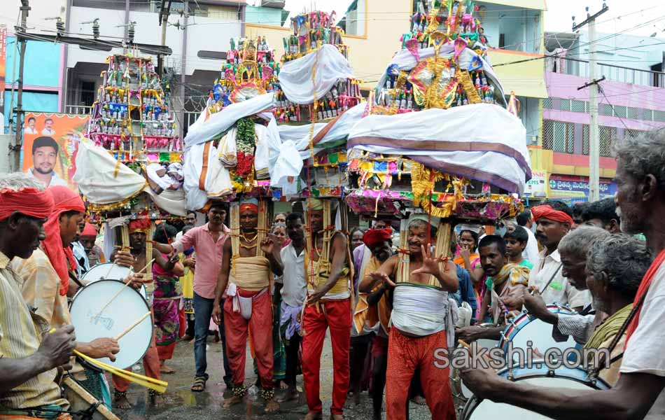
[(332, 342), (332, 414), (344, 412), (346, 393), (349, 391), (349, 346), (351, 345), (351, 300), (328, 300), (307, 305), (302, 316), (302, 377), (307, 406), (311, 412), (322, 412), (319, 392), (321, 351), (326, 328), (330, 328)]

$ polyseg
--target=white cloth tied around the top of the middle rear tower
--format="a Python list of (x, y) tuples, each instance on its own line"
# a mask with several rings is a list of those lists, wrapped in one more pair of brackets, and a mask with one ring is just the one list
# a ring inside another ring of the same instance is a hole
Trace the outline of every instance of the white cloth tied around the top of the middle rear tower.
[[(316, 80), (312, 83), (311, 72), (316, 66)], [(316, 97), (323, 97), (339, 79), (352, 78), (353, 69), (337, 47), (322, 45), (304, 57), (286, 62), (279, 71), (279, 86), (290, 102), (311, 104)]]

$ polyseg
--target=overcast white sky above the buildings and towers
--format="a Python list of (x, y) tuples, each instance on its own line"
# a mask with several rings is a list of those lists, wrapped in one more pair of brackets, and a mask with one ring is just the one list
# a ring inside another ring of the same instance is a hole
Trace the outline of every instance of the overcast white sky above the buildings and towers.
[[(251, 2), (251, 0), (248, 1)], [(285, 8), (295, 13), (304, 9), (311, 10), (312, 8), (314, 10), (318, 8), (328, 13), (335, 10), (337, 17), (341, 18), (351, 1), (286, 0)], [(656, 32), (658, 38), (665, 38), (665, 0), (642, 0), (635, 2), (608, 0), (607, 5), (610, 10), (598, 18), (596, 29), (598, 32), (616, 33), (625, 31), (625, 34), (638, 36), (650, 36)], [(571, 17), (573, 15), (575, 15), (577, 23), (587, 18), (587, 13), (584, 10), (585, 6), (589, 6), (589, 12), (593, 14), (601, 10), (603, 2), (601, 0), (548, 0), (548, 10), (545, 12), (545, 30), (557, 32), (570, 31), (573, 22)], [(655, 21), (646, 23), (651, 20)], [(626, 29), (628, 30), (626, 31)]]

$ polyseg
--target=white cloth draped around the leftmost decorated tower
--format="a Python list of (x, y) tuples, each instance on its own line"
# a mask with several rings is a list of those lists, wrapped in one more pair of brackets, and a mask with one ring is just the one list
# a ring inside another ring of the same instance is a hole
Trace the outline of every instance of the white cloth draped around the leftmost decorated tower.
[[(116, 172), (117, 170), (117, 172)], [(157, 195), (146, 179), (118, 161), (101, 146), (81, 139), (76, 153), (76, 173), (73, 181), (80, 193), (94, 204), (113, 204), (127, 200), (141, 192), (150, 195), (162, 210), (176, 216), (185, 216), (185, 200), (181, 190), (165, 190)]]

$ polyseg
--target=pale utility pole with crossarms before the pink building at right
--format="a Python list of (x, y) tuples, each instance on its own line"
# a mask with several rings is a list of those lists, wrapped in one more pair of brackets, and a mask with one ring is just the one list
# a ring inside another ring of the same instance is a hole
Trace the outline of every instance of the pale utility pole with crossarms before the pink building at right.
[(600, 141), (598, 140), (598, 82), (596, 80), (596, 18), (602, 15), (609, 8), (603, 1), (603, 8), (595, 15), (589, 14), (587, 7), (587, 20), (575, 25), (575, 16), (573, 16), (573, 32), (584, 25), (589, 25), (589, 83), (578, 87), (577, 90), (589, 87), (589, 113), (591, 121), (589, 122), (589, 202), (600, 200)]

